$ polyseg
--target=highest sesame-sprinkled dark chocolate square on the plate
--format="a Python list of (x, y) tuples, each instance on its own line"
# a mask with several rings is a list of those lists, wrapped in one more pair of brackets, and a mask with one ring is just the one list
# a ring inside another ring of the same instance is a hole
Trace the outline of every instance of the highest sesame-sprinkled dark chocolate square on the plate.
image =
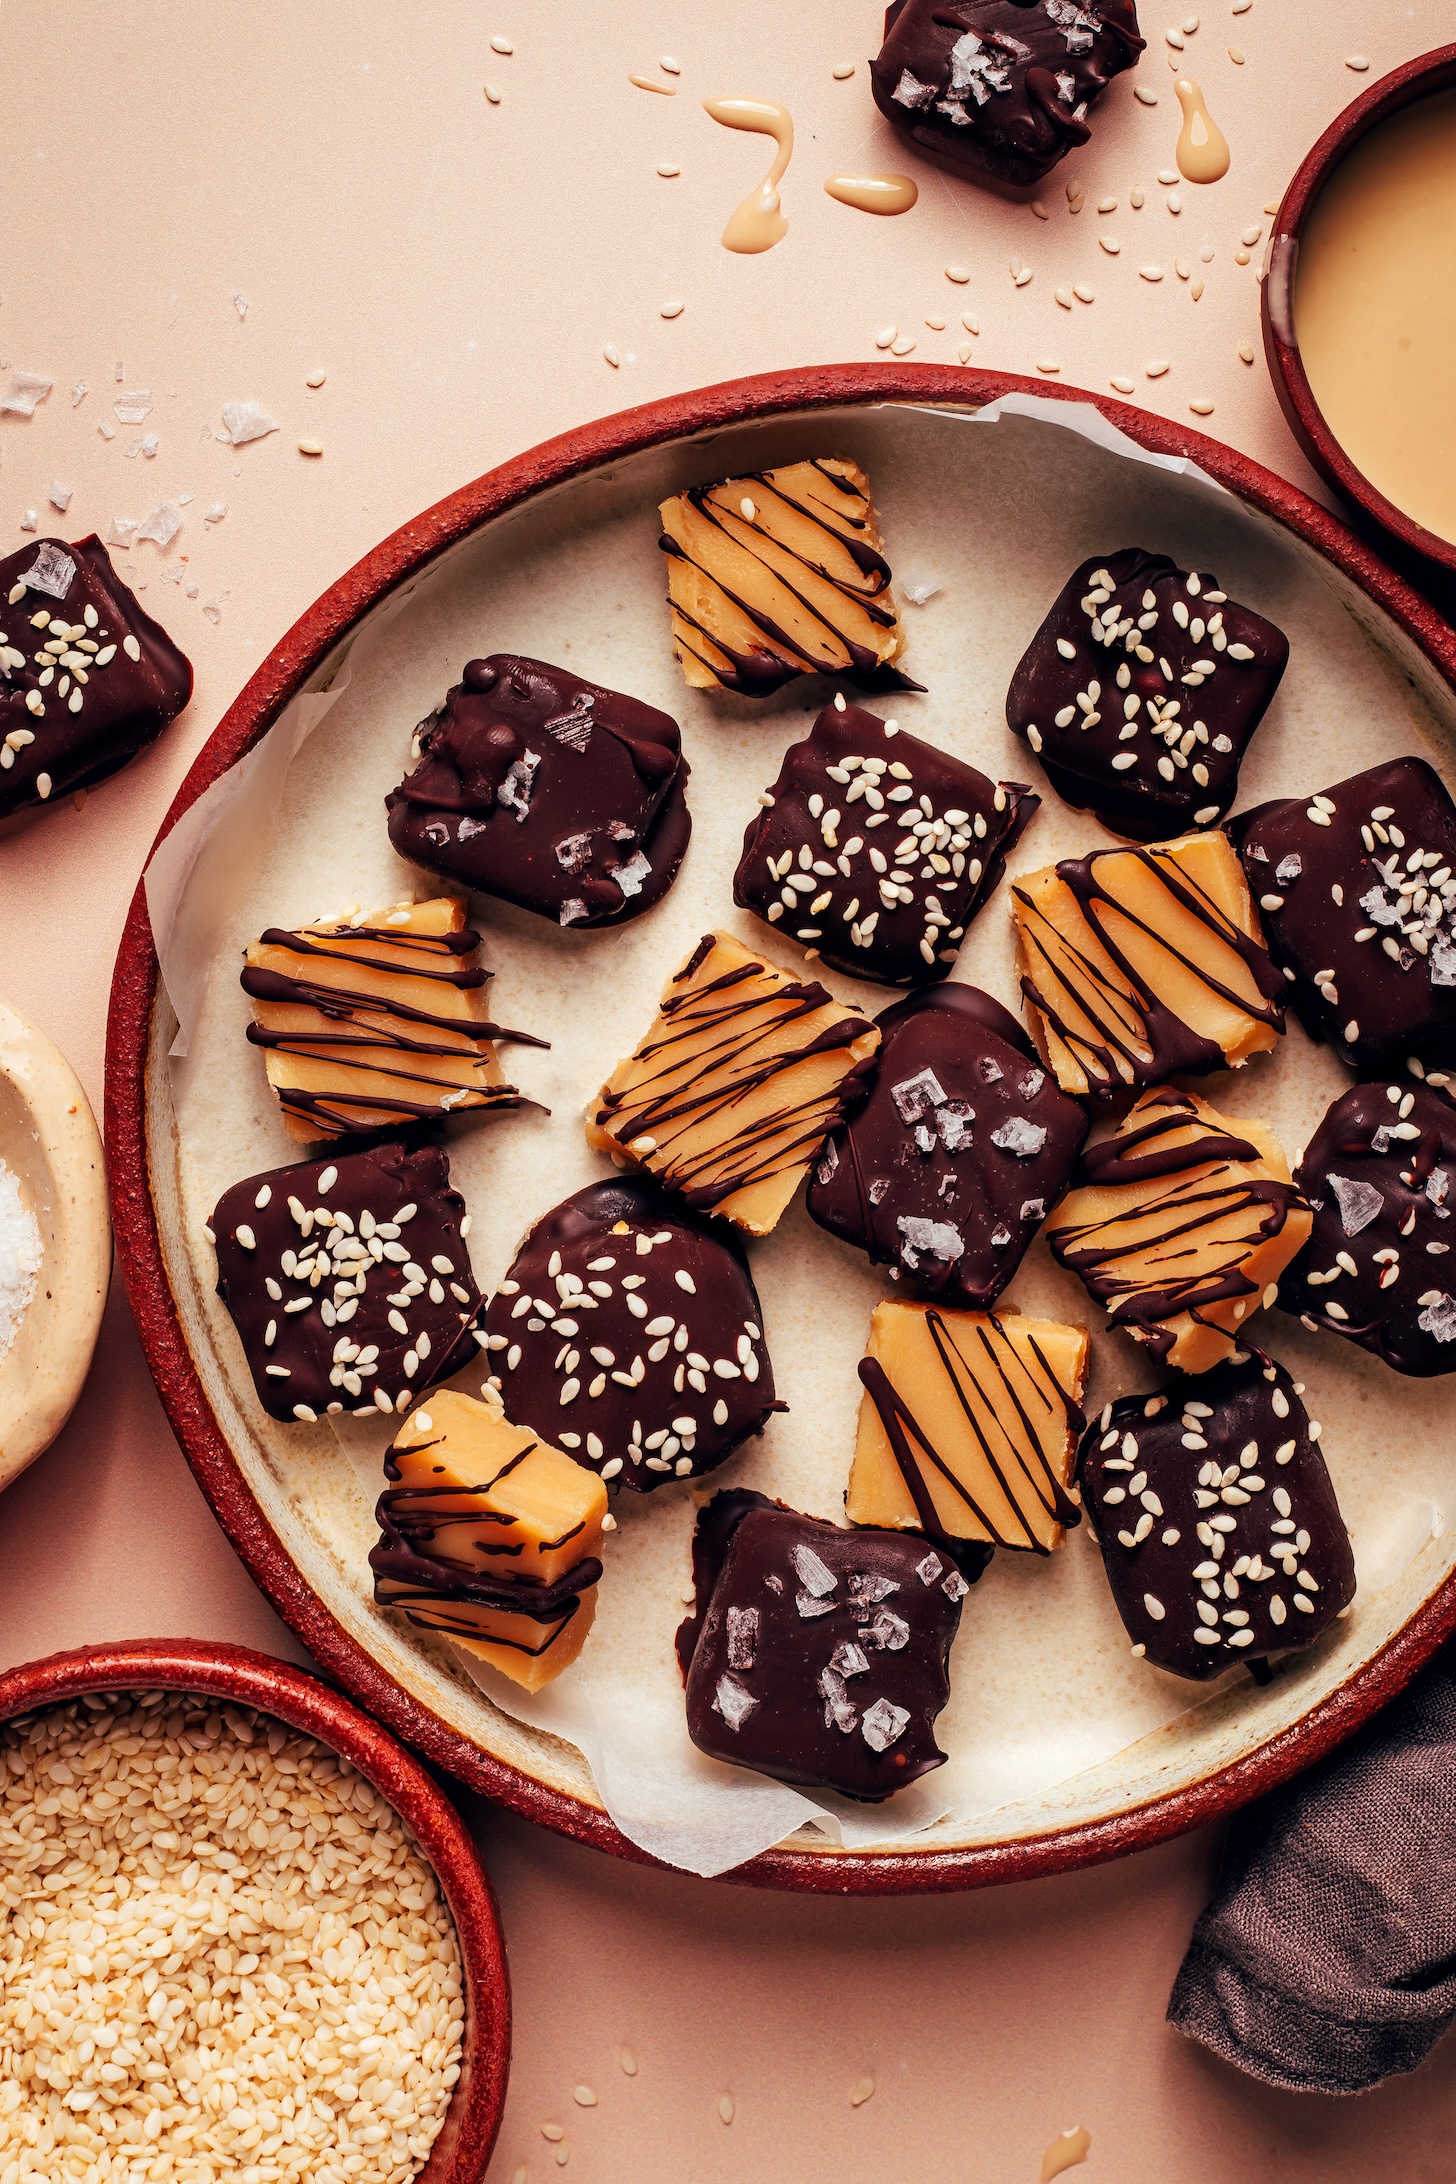
[[(1094, 574), (1111, 577), (1111, 592)], [(1006, 725), (1076, 810), (1131, 841), (1170, 841), (1233, 804), (1288, 657), (1284, 631), (1227, 598), (1214, 574), (1129, 546), (1083, 561), (1057, 594), (1011, 677)]]

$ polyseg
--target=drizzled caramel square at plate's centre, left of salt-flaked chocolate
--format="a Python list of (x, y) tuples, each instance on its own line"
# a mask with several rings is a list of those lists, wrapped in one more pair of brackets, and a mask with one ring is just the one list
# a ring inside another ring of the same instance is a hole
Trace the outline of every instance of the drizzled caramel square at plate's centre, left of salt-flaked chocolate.
[(766, 1236), (878, 1046), (827, 987), (707, 933), (587, 1107), (587, 1142)]

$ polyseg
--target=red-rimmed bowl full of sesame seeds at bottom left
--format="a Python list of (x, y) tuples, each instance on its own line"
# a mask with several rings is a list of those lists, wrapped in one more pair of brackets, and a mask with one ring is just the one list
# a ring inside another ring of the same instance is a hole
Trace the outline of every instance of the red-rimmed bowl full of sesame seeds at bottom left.
[(504, 2105), (489, 1880), (317, 1677), (138, 1640), (0, 1675), (0, 2175), (465, 2184)]

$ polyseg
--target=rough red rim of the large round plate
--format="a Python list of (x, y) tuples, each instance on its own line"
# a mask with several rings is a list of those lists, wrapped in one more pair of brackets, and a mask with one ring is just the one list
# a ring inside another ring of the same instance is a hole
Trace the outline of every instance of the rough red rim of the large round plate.
[[(1089, 402), (1142, 448), (1198, 463), (1231, 494), (1303, 539), (1332, 570), (1373, 598), (1456, 692), (1456, 631), (1441, 620), (1434, 607), (1308, 494), (1203, 432), (1153, 417), (1124, 402), (1000, 371), (895, 363), (823, 365), (729, 380), (720, 387), (703, 387), (694, 393), (622, 411), (616, 417), (602, 417), (502, 463), (404, 524), (362, 561), (356, 561), (268, 653), (192, 764), (157, 841), (170, 832), (203, 788), (266, 734), (288, 699), (362, 614), (447, 546), (548, 487), (664, 441), (790, 411), (849, 408), (871, 402), (980, 408), (1011, 393), (1037, 395), (1043, 402)], [(146, 893), (138, 885), (116, 957), (107, 1024), (105, 1138), (111, 1216), (157, 1393), (218, 1524), (253, 1581), (310, 1653), (397, 1736), (472, 1789), (544, 1828), (554, 1828), (572, 1841), (633, 1859), (640, 1865), (659, 1863), (629, 1843), (596, 1806), (491, 1758), (421, 1706), (334, 1621), (266, 1522), (207, 1404), (166, 1280), (146, 1158), (144, 1077), (155, 1000), (157, 952), (146, 915)], [(956, 1850), (766, 1850), (723, 1878), (753, 1887), (897, 1896), (1026, 1880), (1037, 1874), (1126, 1856), (1218, 1819), (1310, 1765), (1395, 1697), (1454, 1629), (1456, 1575), (1347, 1684), (1329, 1693), (1301, 1721), (1203, 1782), (1168, 1791), (1126, 1813), (1011, 1843)]]

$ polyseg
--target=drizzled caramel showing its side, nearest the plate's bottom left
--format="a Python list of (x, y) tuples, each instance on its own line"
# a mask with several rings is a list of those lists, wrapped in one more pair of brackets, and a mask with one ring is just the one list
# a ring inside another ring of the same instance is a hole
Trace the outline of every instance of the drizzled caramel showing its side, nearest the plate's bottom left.
[(437, 1389), (384, 1459), (373, 1597), (526, 1690), (587, 1642), (607, 1492), (498, 1404)]

